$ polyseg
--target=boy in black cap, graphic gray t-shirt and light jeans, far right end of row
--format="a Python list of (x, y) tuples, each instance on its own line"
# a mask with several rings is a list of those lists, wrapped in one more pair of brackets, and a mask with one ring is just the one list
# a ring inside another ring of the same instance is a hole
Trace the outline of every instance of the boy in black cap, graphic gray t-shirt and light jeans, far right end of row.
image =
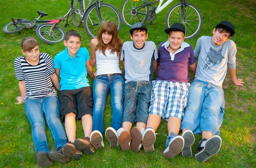
[(195, 159), (201, 162), (221, 148), (219, 133), (225, 106), (222, 83), (227, 69), (234, 85), (244, 84), (236, 78), (236, 44), (229, 40), (235, 34), (235, 27), (229, 21), (221, 21), (212, 34), (212, 37), (202, 36), (196, 43), (194, 56), (198, 67), (180, 126), (185, 140), (183, 156), (192, 156), (193, 133), (202, 135), (195, 154)]

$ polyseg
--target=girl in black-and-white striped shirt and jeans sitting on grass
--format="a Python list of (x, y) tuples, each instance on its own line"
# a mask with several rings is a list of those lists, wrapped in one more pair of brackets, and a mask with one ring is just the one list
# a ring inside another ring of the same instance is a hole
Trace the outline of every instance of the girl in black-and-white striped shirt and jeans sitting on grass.
[[(70, 162), (62, 152), (67, 139), (59, 119), (57, 92), (52, 85), (53, 83), (57, 90), (60, 89), (52, 58), (47, 53), (39, 52), (35, 38), (24, 38), (21, 46), (25, 57), (17, 57), (14, 61), (15, 76), (19, 80), (21, 93), (17, 100), (18, 104), (25, 103), (25, 112), (32, 127), (32, 138), (37, 152), (35, 160), (43, 167), (53, 165), (52, 160)], [(52, 132), (56, 151), (49, 151), (44, 115)]]

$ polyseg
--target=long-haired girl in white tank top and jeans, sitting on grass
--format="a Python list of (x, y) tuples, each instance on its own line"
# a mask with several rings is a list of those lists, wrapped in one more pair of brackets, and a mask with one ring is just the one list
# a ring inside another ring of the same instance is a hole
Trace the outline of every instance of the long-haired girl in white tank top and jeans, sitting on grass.
[(93, 132), (90, 141), (93, 146), (104, 148), (104, 109), (108, 92), (111, 91), (112, 123), (106, 129), (110, 146), (118, 146), (116, 131), (122, 127), (123, 97), (125, 81), (119, 68), (122, 40), (118, 37), (115, 23), (106, 21), (102, 24), (97, 38), (91, 40), (90, 65), (97, 64), (96, 78), (93, 81)]

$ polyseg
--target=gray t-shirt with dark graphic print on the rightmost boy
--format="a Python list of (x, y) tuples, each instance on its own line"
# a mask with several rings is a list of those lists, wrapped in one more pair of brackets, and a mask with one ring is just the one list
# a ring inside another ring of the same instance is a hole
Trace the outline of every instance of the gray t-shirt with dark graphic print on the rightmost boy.
[(211, 82), (220, 87), (226, 76), (227, 67), (236, 68), (236, 44), (232, 40), (216, 46), (212, 43), (212, 37), (202, 36), (196, 43), (194, 56), (198, 59), (195, 79)]

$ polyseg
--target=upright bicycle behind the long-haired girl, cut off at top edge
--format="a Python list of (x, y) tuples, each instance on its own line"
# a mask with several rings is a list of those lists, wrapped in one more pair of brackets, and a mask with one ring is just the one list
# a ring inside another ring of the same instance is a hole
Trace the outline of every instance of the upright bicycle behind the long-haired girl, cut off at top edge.
[(103, 22), (110, 20), (116, 23), (119, 32), (122, 26), (122, 19), (118, 10), (103, 0), (87, 0), (87, 9), (84, 8), (84, 0), (70, 0), (71, 19), (74, 26), (81, 26), (84, 22), (86, 32), (93, 38), (96, 37)]

